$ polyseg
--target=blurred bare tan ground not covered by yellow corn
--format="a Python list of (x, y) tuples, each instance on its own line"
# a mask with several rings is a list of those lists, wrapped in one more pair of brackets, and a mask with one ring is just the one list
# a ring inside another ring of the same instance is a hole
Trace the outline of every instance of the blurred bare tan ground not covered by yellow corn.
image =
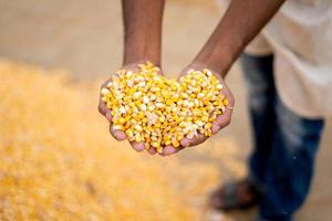
[[(198, 52), (212, 31), (220, 12), (214, 1), (168, 1), (164, 25), (163, 65), (166, 73), (179, 72)], [(122, 60), (122, 25), (120, 1), (115, 0), (0, 0), (0, 56), (73, 71), (74, 78), (92, 81), (106, 77)], [(175, 77), (175, 74), (169, 74)], [(236, 96), (232, 124), (208, 145), (222, 147), (219, 140), (230, 140), (236, 158), (245, 159), (250, 150), (246, 94), (240, 71), (234, 66), (227, 80)], [(331, 213), (332, 125), (326, 125), (317, 173), (308, 202), (299, 220), (323, 221)], [(329, 136), (330, 135), (330, 136)], [(197, 147), (199, 148), (199, 147)], [(186, 154), (181, 160), (212, 160), (211, 157)], [(214, 159), (216, 160), (216, 159)], [(218, 162), (222, 180), (240, 176), (237, 166)], [(249, 220), (249, 213), (235, 213), (236, 220)], [(224, 217), (225, 218), (225, 217)]]

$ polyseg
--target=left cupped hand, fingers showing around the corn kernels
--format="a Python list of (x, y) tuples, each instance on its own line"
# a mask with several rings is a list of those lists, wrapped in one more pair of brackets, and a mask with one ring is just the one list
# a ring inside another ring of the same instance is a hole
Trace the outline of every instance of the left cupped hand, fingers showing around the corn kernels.
[[(131, 63), (131, 64), (126, 64), (124, 65), (121, 70), (126, 70), (126, 71), (132, 71), (132, 72), (137, 72), (139, 71), (138, 69), (138, 64), (141, 64), (142, 62), (139, 63)], [(159, 72), (160, 75), (163, 75), (163, 72), (160, 71)], [(110, 78), (104, 82), (101, 86), (101, 90), (102, 88), (106, 88), (107, 87), (107, 84), (111, 82), (111, 76)], [(113, 122), (112, 122), (112, 115), (111, 115), (111, 109), (108, 109), (106, 107), (106, 104), (102, 101), (102, 95), (100, 95), (100, 101), (98, 101), (98, 112), (108, 120), (110, 123), (110, 133), (111, 135), (117, 139), (117, 140), (125, 140), (127, 139), (127, 136), (126, 134), (123, 131), (123, 130), (118, 130), (118, 129), (114, 129), (113, 127)], [(135, 149), (136, 151), (143, 151), (145, 149), (145, 146), (144, 146), (144, 143), (136, 143), (136, 141), (131, 141), (131, 146), (133, 147), (133, 149)], [(152, 155), (155, 155), (157, 151), (155, 148), (149, 148), (148, 149), (148, 152), (152, 154)]]

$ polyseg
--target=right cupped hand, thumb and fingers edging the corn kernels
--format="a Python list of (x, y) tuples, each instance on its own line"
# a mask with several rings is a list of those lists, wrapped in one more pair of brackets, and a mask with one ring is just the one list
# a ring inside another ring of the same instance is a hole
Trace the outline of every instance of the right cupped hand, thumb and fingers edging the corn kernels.
[[(191, 65), (187, 66), (181, 74), (179, 75), (179, 77), (184, 76), (187, 74), (187, 72), (189, 70), (197, 70), (197, 71), (203, 71), (205, 69), (208, 69), (207, 66), (205, 66), (204, 64), (195, 64), (193, 63)], [(224, 127), (228, 126), (230, 124), (231, 120), (231, 115), (232, 115), (232, 109), (235, 106), (235, 98), (230, 92), (230, 90), (228, 88), (226, 82), (224, 81), (221, 73), (215, 72), (214, 70), (210, 70), (214, 75), (219, 80), (219, 83), (222, 84), (222, 88), (221, 88), (221, 93), (224, 94), (224, 96), (228, 99), (228, 105), (226, 106), (225, 113), (221, 115), (218, 115), (217, 118), (212, 122), (212, 135), (217, 134), (220, 129), (222, 129)], [(208, 137), (206, 137), (203, 134), (199, 134), (193, 138), (184, 138), (183, 140), (180, 140), (180, 147), (178, 148), (174, 148), (172, 146), (165, 147), (164, 148), (164, 155), (173, 155), (186, 147), (193, 147), (196, 145), (199, 145), (201, 143), (204, 143)]]

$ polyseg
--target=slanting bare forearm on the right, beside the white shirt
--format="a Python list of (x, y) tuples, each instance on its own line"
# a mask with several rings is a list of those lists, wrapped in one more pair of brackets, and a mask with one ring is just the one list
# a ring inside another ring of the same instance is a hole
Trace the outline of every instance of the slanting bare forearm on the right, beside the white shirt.
[(216, 30), (196, 56), (226, 75), (245, 46), (260, 32), (286, 0), (231, 0)]

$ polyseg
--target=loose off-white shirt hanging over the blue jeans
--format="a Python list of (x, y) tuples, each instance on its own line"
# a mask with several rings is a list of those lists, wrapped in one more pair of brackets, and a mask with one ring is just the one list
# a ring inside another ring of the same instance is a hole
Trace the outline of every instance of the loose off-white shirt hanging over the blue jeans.
[(274, 53), (281, 101), (297, 114), (332, 116), (332, 0), (289, 0), (246, 49)]

